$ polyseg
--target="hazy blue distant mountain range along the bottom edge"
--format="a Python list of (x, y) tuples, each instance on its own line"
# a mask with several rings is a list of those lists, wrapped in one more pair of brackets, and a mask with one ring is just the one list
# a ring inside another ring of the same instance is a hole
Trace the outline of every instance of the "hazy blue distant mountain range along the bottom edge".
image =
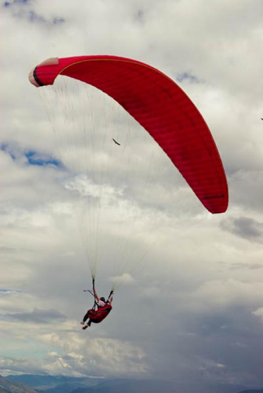
[[(263, 393), (263, 390), (246, 389), (242, 385), (218, 383), (183, 383), (156, 379), (124, 379), (65, 377), (62, 375), (8, 375), (11, 382), (29, 385), (38, 393)], [(35, 391), (11, 391), (11, 393), (35, 393)], [(10, 393), (3, 391), (0, 393)]]

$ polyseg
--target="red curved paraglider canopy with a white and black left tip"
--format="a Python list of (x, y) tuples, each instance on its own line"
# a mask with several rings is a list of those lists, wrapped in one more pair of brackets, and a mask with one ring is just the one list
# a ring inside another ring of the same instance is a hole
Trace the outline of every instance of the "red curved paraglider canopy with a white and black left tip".
[(35, 86), (53, 84), (58, 75), (91, 84), (114, 98), (156, 140), (211, 213), (228, 207), (225, 171), (200, 112), (157, 69), (124, 57), (51, 58), (29, 74)]

